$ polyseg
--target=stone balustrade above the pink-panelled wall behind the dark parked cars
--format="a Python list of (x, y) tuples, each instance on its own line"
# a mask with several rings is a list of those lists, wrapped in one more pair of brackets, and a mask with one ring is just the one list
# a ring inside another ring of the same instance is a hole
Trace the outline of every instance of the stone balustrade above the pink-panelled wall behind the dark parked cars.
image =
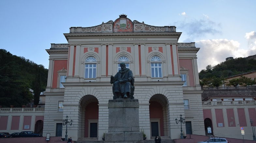
[(44, 112), (44, 108), (0, 108), (0, 113), (8, 112)]

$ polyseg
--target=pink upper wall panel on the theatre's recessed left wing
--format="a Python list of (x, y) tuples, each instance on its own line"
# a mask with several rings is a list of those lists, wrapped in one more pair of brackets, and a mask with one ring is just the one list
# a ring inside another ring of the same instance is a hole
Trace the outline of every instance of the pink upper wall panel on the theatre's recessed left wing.
[(65, 68), (67, 69), (68, 60), (54, 60), (53, 64), (53, 87), (57, 88), (58, 71)]

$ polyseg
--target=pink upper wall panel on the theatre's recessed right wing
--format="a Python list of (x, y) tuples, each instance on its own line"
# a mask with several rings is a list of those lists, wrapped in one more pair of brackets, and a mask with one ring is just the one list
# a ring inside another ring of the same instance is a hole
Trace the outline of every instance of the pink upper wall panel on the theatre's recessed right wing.
[(188, 69), (188, 78), (189, 78), (188, 86), (195, 86), (192, 59), (179, 59), (179, 65), (180, 67), (184, 67)]

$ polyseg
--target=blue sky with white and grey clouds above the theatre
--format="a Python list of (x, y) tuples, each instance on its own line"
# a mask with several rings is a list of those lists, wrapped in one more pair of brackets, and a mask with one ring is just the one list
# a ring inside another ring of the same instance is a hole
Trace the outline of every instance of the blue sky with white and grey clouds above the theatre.
[(51, 43), (70, 27), (91, 27), (120, 14), (153, 26), (176, 26), (179, 42), (200, 47), (199, 71), (226, 57), (256, 54), (255, 0), (0, 0), (0, 49), (49, 66)]

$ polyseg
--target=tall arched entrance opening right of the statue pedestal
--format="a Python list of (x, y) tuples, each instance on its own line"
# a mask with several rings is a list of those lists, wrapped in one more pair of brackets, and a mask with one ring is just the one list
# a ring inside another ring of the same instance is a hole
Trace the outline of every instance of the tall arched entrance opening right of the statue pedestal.
[(149, 118), (150, 118), (150, 135), (167, 136), (168, 135), (168, 100), (162, 94), (155, 94), (149, 100)]

